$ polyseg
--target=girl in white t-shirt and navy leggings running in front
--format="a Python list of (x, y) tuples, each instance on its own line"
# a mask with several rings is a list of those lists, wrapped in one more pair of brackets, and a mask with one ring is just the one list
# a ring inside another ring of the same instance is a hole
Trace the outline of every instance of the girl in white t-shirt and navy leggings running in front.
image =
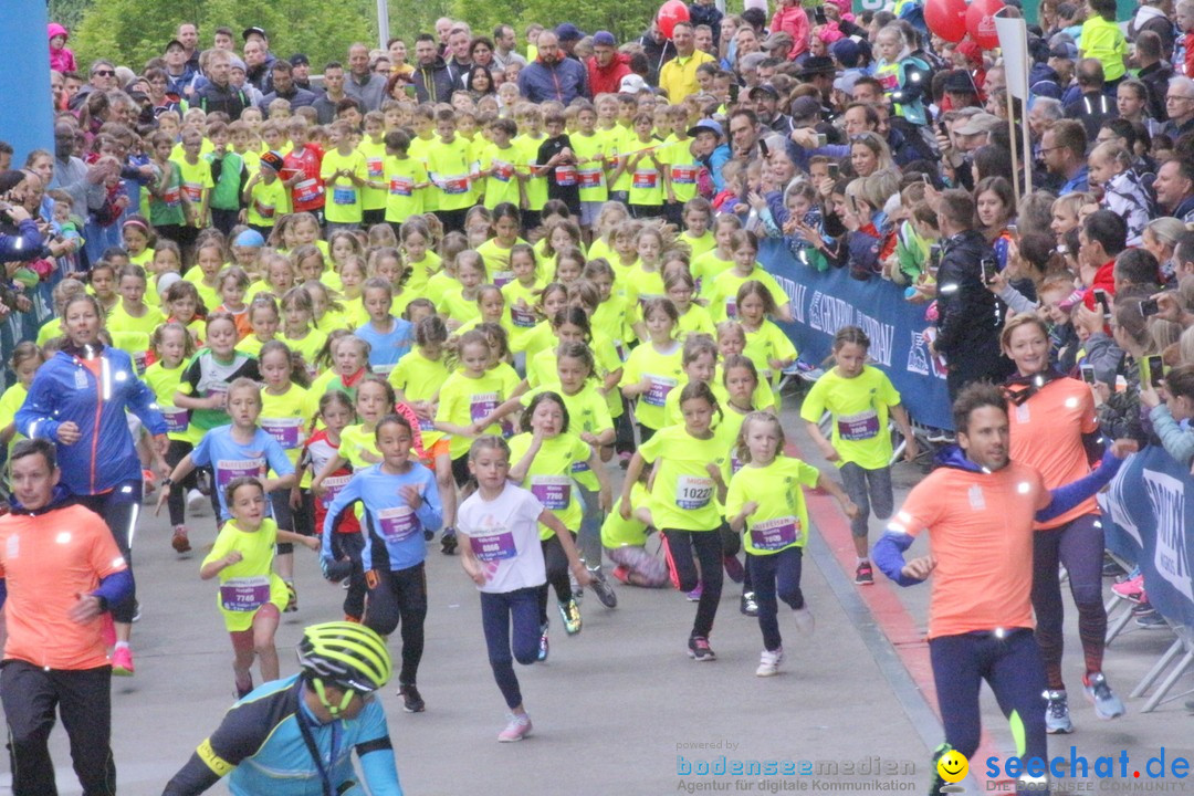
[[(456, 523), (463, 551), (461, 564), (481, 592), (481, 625), (490, 666), (510, 708), (510, 721), (498, 741), (521, 741), (530, 734), (513, 661), (538, 659), (538, 587), (547, 582), (538, 539), (542, 523), (555, 532), (568, 566), (581, 586), (591, 575), (577, 555), (572, 533), (527, 489), (510, 483), (510, 446), (500, 437), (479, 437), (468, 451), (475, 492), (460, 506)], [(513, 625), (511, 650), (510, 628)]]

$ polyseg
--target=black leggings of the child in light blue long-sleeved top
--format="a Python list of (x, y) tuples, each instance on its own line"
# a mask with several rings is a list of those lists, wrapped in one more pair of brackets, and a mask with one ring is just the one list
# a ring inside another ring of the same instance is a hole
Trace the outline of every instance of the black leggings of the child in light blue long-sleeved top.
[(402, 625), (400, 685), (414, 685), (423, 660), (423, 623), (427, 618), (427, 574), (423, 562), (406, 569), (370, 569), (365, 573), (369, 607), (364, 625), (382, 636)]

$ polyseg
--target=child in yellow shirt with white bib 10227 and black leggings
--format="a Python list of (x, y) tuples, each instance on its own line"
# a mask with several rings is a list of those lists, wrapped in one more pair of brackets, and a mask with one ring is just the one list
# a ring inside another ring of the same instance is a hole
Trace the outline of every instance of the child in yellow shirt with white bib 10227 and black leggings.
[(725, 442), (713, 432), (714, 413), (721, 414), (718, 399), (704, 382), (694, 382), (681, 391), (683, 425), (669, 426), (646, 440), (634, 456), (622, 483), (622, 519), (630, 518), (630, 492), (644, 465), (659, 462), (651, 486), (651, 516), (667, 542), (667, 562), (682, 592), (697, 585), (694, 548), (703, 576), (696, 619), (688, 638), (689, 658), (715, 660), (709, 633), (721, 599), (722, 520), (719, 505), (725, 501), (722, 467)]

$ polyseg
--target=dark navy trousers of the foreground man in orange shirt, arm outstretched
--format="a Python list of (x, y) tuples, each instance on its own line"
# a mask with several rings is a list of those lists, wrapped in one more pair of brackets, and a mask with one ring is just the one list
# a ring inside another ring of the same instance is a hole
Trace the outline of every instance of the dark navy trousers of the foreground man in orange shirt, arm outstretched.
[(1003, 637), (993, 631), (938, 636), (929, 640), (933, 680), (946, 742), (967, 758), (978, 749), (978, 690), (986, 680), (1009, 720), (1015, 712), (1023, 724), (1023, 760), (1048, 760), (1045, 734), (1045, 665), (1040, 647), (1028, 628), (1009, 629)]

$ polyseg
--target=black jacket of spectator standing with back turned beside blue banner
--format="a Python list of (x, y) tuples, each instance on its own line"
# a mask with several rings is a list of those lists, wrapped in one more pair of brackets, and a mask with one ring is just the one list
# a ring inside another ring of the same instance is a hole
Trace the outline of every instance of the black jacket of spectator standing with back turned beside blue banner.
[(1002, 380), (1008, 360), (999, 352), (1005, 308), (983, 284), (983, 258), (995, 251), (968, 229), (944, 241), (937, 270), (937, 352), (965, 381)]

